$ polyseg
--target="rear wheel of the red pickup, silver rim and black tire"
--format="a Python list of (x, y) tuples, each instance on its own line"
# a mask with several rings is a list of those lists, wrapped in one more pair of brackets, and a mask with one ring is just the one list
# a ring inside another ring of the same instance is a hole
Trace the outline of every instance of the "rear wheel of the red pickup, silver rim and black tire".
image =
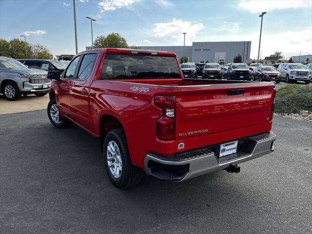
[(104, 164), (112, 183), (120, 189), (138, 184), (143, 172), (131, 162), (123, 129), (109, 131), (103, 144)]

